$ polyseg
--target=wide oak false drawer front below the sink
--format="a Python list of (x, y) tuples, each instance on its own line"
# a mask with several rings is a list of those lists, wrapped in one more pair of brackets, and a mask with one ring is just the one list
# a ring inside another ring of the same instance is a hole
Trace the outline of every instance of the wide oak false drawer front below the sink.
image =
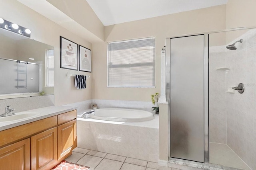
[(52, 116), (46, 119), (0, 131), (0, 146), (24, 139), (25, 137), (29, 137), (30, 135), (39, 133), (40, 131), (49, 129), (50, 127), (54, 127), (56, 125), (57, 116)]

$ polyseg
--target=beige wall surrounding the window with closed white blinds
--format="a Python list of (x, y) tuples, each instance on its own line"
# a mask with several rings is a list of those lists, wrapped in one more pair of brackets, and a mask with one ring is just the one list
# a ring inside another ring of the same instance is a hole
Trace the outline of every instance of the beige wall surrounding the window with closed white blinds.
[[(105, 27), (106, 43), (93, 43), (93, 98), (150, 101), (160, 93), (160, 51), (165, 38), (182, 34), (225, 29), (225, 5), (170, 14)], [(156, 88), (107, 88), (107, 42), (156, 37)]]

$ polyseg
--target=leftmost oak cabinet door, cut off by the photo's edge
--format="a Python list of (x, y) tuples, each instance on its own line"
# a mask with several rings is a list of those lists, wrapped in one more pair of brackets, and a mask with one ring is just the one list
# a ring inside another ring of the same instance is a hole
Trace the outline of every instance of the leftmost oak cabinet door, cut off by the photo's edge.
[(30, 138), (0, 149), (0, 170), (30, 170)]

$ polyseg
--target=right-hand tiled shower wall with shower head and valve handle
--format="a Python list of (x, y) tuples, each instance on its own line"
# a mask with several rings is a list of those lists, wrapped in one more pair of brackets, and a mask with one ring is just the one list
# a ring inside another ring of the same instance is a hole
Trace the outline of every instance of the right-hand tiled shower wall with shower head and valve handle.
[(256, 169), (256, 29), (244, 33), (229, 44), (237, 50), (226, 50), (228, 87), (243, 83), (243, 94), (226, 94), (227, 145), (252, 169)]

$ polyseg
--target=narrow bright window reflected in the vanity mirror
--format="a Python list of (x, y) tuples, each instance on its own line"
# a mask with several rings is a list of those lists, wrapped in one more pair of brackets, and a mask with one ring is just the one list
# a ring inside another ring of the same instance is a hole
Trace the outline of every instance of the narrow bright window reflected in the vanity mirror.
[(54, 50), (48, 49), (46, 50), (45, 57), (45, 66), (46, 66), (46, 78), (45, 85), (46, 87), (54, 86)]

